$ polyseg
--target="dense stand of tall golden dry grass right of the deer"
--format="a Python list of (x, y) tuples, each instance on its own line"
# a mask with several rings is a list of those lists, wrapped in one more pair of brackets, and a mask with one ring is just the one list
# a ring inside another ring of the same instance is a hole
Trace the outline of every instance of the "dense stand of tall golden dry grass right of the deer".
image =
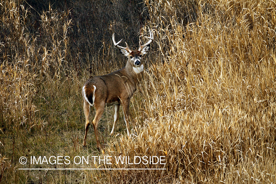
[(144, 126), (110, 153), (166, 155), (167, 170), (153, 177), (161, 183), (274, 183), (276, 4), (209, 3), (199, 2), (195, 23), (153, 27), (161, 52), (137, 99)]

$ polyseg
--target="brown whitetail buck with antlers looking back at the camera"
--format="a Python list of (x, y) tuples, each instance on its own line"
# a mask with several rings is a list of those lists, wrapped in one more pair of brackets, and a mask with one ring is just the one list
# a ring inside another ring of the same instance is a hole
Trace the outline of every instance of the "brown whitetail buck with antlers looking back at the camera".
[(114, 123), (110, 136), (113, 135), (115, 130), (116, 121), (118, 119), (119, 107), (123, 106), (124, 120), (126, 122), (126, 130), (128, 136), (130, 136), (129, 130), (129, 101), (136, 91), (136, 85), (142, 78), (144, 71), (143, 66), (143, 55), (147, 54), (150, 49), (150, 43), (153, 42), (153, 33), (150, 31), (150, 37), (146, 38), (149, 41), (141, 46), (141, 41), (139, 42), (138, 50), (130, 50), (128, 44), (126, 47), (121, 47), (118, 44), (122, 41), (115, 42), (114, 33), (112, 36), (113, 43), (115, 47), (118, 47), (121, 54), (128, 57), (126, 66), (120, 70), (116, 70), (110, 74), (95, 76), (89, 78), (82, 89), (83, 94), (83, 110), (85, 115), (85, 134), (83, 140), (83, 146), (86, 146), (86, 136), (89, 123), (90, 108), (95, 107), (96, 115), (92, 122), (95, 130), (95, 136), (97, 141), (97, 148), (102, 149), (99, 135), (98, 135), (98, 122), (102, 117), (104, 108), (106, 106), (114, 106)]

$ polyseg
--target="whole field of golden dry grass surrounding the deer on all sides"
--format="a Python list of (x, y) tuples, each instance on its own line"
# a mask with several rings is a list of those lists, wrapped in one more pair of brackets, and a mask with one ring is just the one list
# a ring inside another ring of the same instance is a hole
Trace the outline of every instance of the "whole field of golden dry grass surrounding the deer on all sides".
[[(37, 12), (43, 41), (29, 31), (34, 15), (22, 3), (0, 2), (0, 183), (276, 183), (275, 0), (138, 4), (148, 18), (137, 38), (151, 29), (155, 40), (131, 100), (132, 136), (120, 108), (109, 137), (113, 107), (105, 108), (98, 127), (104, 153), (92, 126), (82, 147), (81, 88), (89, 76), (125, 65), (114, 30), (90, 57), (72, 49), (73, 10), (49, 3)], [(22, 156), (165, 156), (166, 164), (20, 164)]]

